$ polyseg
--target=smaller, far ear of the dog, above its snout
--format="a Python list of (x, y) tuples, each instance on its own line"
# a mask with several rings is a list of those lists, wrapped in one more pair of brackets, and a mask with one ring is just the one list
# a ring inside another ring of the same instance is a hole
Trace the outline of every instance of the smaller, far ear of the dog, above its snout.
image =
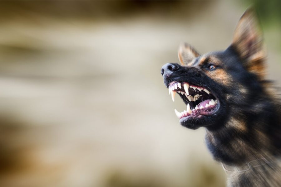
[(182, 65), (189, 65), (189, 63), (197, 56), (200, 56), (199, 53), (189, 44), (180, 44), (178, 50), (178, 57)]

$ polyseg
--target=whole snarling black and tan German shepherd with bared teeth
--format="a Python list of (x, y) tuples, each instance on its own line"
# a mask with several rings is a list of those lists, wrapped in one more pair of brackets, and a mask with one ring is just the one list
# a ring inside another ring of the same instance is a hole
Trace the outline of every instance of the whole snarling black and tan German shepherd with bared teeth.
[(281, 102), (265, 78), (266, 55), (253, 8), (247, 9), (224, 51), (200, 55), (180, 45), (181, 65), (161, 69), (172, 100), (178, 93), (187, 109), (175, 110), (180, 124), (205, 127), (205, 141), (228, 173), (228, 186), (281, 186)]

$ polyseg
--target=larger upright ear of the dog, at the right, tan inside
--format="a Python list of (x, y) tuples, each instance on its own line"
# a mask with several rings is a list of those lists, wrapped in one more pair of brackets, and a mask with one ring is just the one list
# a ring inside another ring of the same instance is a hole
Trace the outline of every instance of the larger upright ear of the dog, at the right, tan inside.
[(263, 37), (253, 8), (247, 9), (240, 18), (234, 31), (231, 46), (239, 54), (243, 66), (260, 78), (265, 75), (265, 51)]

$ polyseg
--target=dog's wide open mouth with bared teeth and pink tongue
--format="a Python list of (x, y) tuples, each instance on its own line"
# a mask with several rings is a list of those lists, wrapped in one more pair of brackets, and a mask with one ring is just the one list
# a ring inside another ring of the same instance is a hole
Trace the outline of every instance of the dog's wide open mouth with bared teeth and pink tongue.
[(187, 105), (186, 110), (175, 114), (180, 122), (188, 121), (190, 118), (200, 118), (214, 115), (219, 109), (218, 99), (206, 88), (187, 82), (173, 81), (169, 84), (169, 94), (175, 100), (175, 94), (179, 93)]

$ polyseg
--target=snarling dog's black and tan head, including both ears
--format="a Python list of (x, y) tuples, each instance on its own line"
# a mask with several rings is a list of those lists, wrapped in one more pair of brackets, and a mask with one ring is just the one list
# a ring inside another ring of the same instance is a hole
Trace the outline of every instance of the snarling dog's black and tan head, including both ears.
[(161, 74), (172, 99), (178, 93), (187, 105), (181, 113), (175, 110), (181, 125), (215, 129), (231, 117), (262, 109), (257, 101), (264, 97), (265, 53), (253, 10), (244, 12), (226, 50), (200, 55), (184, 43), (178, 57), (181, 65), (165, 64)]

